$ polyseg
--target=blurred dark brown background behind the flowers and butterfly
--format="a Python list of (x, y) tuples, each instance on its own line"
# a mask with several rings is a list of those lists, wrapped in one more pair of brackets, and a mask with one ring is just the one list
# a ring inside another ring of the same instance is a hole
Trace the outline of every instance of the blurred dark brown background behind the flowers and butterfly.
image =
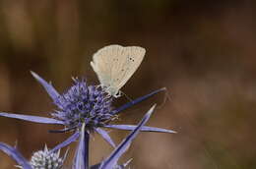
[[(138, 123), (157, 102), (148, 125), (178, 134), (140, 134), (121, 161), (132, 157), (131, 168), (147, 169), (256, 168), (255, 7), (248, 0), (1, 0), (0, 110), (49, 117), (56, 107), (31, 70), (60, 92), (71, 77), (98, 84), (90, 66), (97, 49), (139, 45), (147, 49), (145, 60), (122, 91), (136, 98), (166, 86), (170, 99), (163, 102), (160, 93), (117, 123)], [(28, 159), (45, 143), (69, 137), (48, 134), (55, 126), (7, 118), (0, 129), (0, 141), (18, 141)], [(111, 132), (116, 142), (127, 134)], [(95, 135), (91, 163), (111, 150)], [(1, 169), (15, 164), (0, 153)]]

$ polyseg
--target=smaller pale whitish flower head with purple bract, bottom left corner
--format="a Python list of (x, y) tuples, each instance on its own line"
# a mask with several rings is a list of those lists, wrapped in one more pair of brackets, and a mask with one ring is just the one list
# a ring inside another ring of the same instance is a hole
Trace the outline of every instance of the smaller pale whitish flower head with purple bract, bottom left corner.
[(63, 157), (60, 157), (60, 149), (57, 152), (50, 152), (47, 146), (43, 150), (38, 150), (32, 154), (31, 161), (19, 152), (16, 147), (0, 142), (0, 150), (11, 156), (22, 169), (61, 169), (67, 155), (67, 151)]

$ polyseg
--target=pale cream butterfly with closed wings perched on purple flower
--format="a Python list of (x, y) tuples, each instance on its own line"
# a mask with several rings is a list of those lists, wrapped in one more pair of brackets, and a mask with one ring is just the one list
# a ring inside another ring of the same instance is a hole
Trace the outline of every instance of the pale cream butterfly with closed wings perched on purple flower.
[(127, 83), (138, 69), (146, 50), (139, 46), (105, 46), (93, 56), (91, 66), (96, 72), (100, 85), (108, 95), (121, 96), (120, 88)]

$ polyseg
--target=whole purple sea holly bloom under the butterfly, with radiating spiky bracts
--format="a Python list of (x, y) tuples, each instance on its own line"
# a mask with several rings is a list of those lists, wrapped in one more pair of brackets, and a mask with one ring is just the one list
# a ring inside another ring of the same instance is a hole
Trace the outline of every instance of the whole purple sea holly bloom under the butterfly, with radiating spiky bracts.
[[(147, 95), (139, 97), (133, 101), (130, 101), (119, 108), (114, 109), (111, 106), (112, 98), (109, 98), (107, 94), (98, 85), (88, 85), (84, 80), (80, 81), (74, 79), (74, 85), (71, 86), (63, 94), (59, 94), (52, 84), (46, 83), (37, 74), (32, 72), (33, 78), (41, 84), (52, 98), (53, 103), (57, 106), (57, 110), (51, 113), (52, 118), (21, 115), (0, 112), (0, 116), (16, 118), (25, 121), (44, 123), (44, 124), (57, 124), (63, 125), (64, 129), (57, 132), (75, 131), (75, 133), (66, 141), (61, 142), (50, 152), (54, 152), (73, 141), (77, 141), (83, 135), (85, 141), (82, 145), (85, 147), (85, 153), (83, 154), (85, 159), (85, 168), (89, 168), (89, 141), (90, 134), (92, 132), (98, 133), (105, 141), (115, 147), (115, 143), (111, 140), (108, 133), (102, 128), (111, 128), (125, 131), (133, 131), (137, 128), (135, 125), (111, 125), (110, 122), (123, 110), (138, 104), (139, 102), (165, 90), (160, 88)], [(82, 130), (82, 126), (85, 126)], [(165, 130), (154, 127), (144, 126), (140, 128), (143, 132), (159, 132), (159, 133), (175, 133), (171, 130)], [(56, 131), (55, 131), (56, 132)], [(79, 150), (80, 151), (80, 150)]]

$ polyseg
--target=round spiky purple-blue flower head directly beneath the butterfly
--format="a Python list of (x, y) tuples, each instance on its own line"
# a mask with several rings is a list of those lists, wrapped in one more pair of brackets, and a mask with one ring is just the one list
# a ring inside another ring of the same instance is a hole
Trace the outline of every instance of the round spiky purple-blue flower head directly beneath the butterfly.
[(88, 85), (85, 80), (79, 79), (73, 81), (73, 86), (54, 99), (59, 109), (52, 116), (64, 121), (68, 128), (85, 123), (87, 130), (111, 120), (112, 98), (98, 85)]

